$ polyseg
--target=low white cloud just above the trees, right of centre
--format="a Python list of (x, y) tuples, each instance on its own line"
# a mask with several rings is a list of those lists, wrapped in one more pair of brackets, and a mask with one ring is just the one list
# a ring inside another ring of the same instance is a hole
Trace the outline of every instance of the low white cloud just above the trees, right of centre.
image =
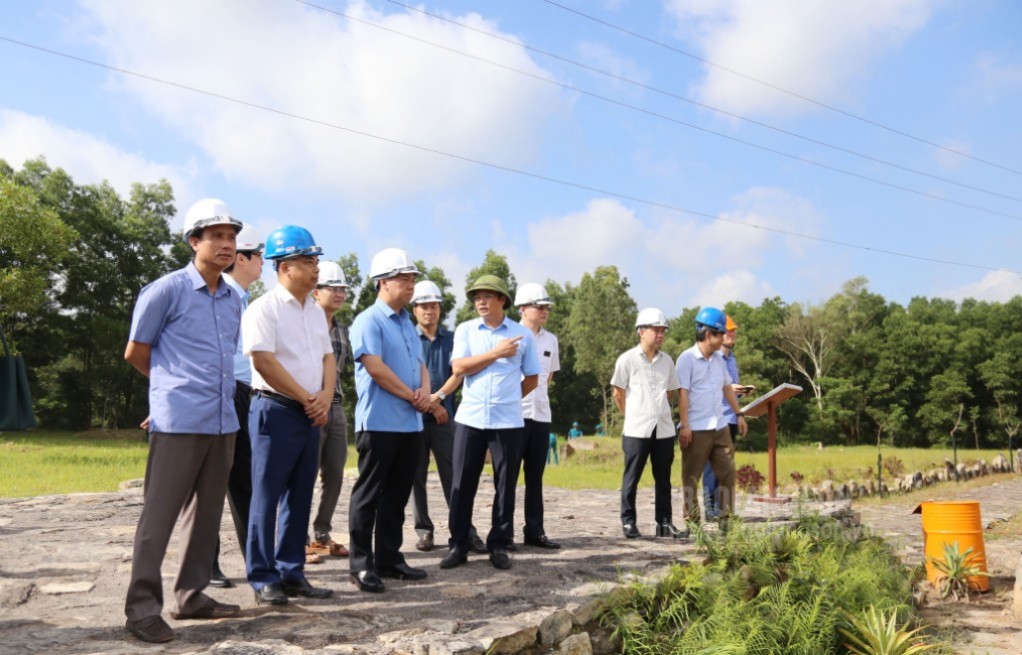
[(753, 188), (732, 199), (726, 221), (678, 214), (637, 216), (618, 200), (591, 200), (582, 212), (529, 224), (524, 252), (511, 250), (519, 282), (554, 279), (577, 284), (582, 275), (613, 265), (633, 283), (640, 306), (668, 315), (694, 305), (757, 303), (778, 294), (758, 269), (802, 260), (811, 247), (794, 237), (745, 226), (814, 234), (821, 217), (782, 189)]

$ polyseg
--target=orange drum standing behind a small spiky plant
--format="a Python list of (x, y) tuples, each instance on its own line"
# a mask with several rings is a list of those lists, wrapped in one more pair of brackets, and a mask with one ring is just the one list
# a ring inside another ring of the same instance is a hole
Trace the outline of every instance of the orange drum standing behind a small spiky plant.
[[(923, 554), (926, 556), (926, 577), (936, 583), (940, 579), (930, 559), (943, 561), (944, 545), (958, 543), (959, 553), (971, 548), (971, 563), (986, 572), (986, 548), (983, 546), (983, 520), (978, 501), (935, 501), (922, 503), (914, 514), (923, 514)], [(979, 592), (990, 589), (990, 578), (974, 575), (969, 578)]]

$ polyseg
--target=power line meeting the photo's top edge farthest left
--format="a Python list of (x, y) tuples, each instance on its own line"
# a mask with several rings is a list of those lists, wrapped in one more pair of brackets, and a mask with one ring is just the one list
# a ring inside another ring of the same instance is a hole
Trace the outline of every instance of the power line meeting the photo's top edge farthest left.
[[(440, 50), (446, 50), (448, 52), (451, 52), (453, 54), (457, 54), (459, 56), (467, 57), (469, 59), (474, 59), (476, 61), (479, 61), (481, 63), (485, 63), (487, 65), (492, 65), (492, 66), (495, 66), (495, 67), (498, 67), (498, 68), (501, 68), (501, 69), (504, 69), (504, 71), (508, 71), (510, 73), (514, 73), (514, 74), (517, 74), (517, 75), (520, 75), (520, 76), (523, 76), (523, 77), (526, 77), (526, 78), (530, 78), (532, 80), (538, 80), (540, 82), (543, 82), (543, 83), (546, 83), (546, 84), (549, 84), (549, 85), (552, 85), (552, 86), (560, 87), (562, 89), (566, 89), (568, 91), (572, 91), (572, 92), (578, 93), (580, 95), (586, 95), (586, 96), (589, 96), (589, 97), (592, 97), (592, 98), (596, 98), (598, 100), (602, 100), (602, 101), (610, 103), (610, 104), (615, 104), (617, 106), (621, 106), (621, 107), (624, 107), (624, 108), (628, 108), (628, 109), (633, 109), (635, 111), (639, 111), (641, 113), (645, 113), (645, 114), (648, 114), (648, 115), (651, 115), (651, 116), (654, 116), (654, 118), (657, 118), (657, 119), (661, 119), (663, 121), (667, 121), (667, 122), (673, 123), (676, 125), (681, 125), (681, 126), (684, 126), (684, 127), (692, 129), (692, 130), (697, 130), (699, 132), (710, 134), (710, 135), (719, 137), (722, 139), (728, 139), (729, 141), (734, 141), (735, 143), (741, 143), (743, 145), (747, 145), (749, 147), (757, 148), (757, 149), (763, 150), (765, 152), (771, 152), (773, 154), (777, 154), (777, 155), (780, 155), (780, 156), (783, 156), (783, 157), (787, 157), (787, 158), (793, 159), (795, 161), (801, 161), (801, 162), (807, 163), (809, 166), (815, 166), (815, 167), (818, 167), (818, 168), (821, 168), (821, 169), (826, 169), (828, 171), (833, 171), (835, 173), (840, 173), (840, 174), (846, 175), (848, 177), (856, 178), (856, 179), (860, 179), (860, 180), (865, 180), (867, 182), (872, 182), (874, 184), (878, 184), (880, 186), (885, 186), (885, 187), (888, 187), (888, 188), (891, 188), (891, 189), (896, 189), (898, 191), (903, 191), (905, 193), (913, 193), (915, 195), (919, 195), (919, 196), (922, 196), (922, 197), (925, 197), (925, 198), (930, 198), (932, 200), (937, 200), (939, 202), (946, 202), (948, 204), (955, 204), (955, 205), (958, 205), (958, 206), (961, 206), (961, 207), (965, 207), (967, 209), (974, 209), (976, 212), (982, 212), (984, 214), (989, 214), (991, 216), (1000, 216), (1000, 217), (1003, 217), (1003, 218), (1006, 218), (1006, 219), (1012, 219), (1012, 220), (1015, 220), (1015, 221), (1022, 221), (1022, 216), (1018, 216), (1018, 215), (1014, 215), (1014, 214), (1009, 214), (1007, 212), (1000, 212), (997, 209), (991, 209), (991, 208), (988, 208), (988, 207), (984, 207), (982, 205), (973, 204), (971, 202), (965, 202), (963, 200), (956, 200), (954, 198), (948, 198), (946, 196), (943, 196), (943, 195), (940, 195), (940, 194), (937, 194), (937, 193), (930, 193), (928, 191), (921, 191), (919, 189), (914, 189), (912, 187), (908, 187), (908, 186), (904, 186), (904, 185), (901, 185), (901, 184), (895, 184), (893, 182), (888, 182), (887, 180), (881, 180), (879, 178), (874, 178), (874, 177), (871, 177), (871, 176), (868, 176), (868, 175), (863, 175), (861, 173), (855, 173), (853, 171), (848, 171), (847, 169), (842, 169), (840, 167), (832, 166), (832, 165), (829, 165), (829, 163), (824, 163), (822, 161), (817, 161), (816, 159), (810, 159), (808, 157), (803, 157), (803, 156), (800, 156), (800, 155), (797, 155), (797, 154), (791, 154), (790, 152), (785, 152), (784, 150), (778, 150), (777, 148), (772, 148), (770, 146), (760, 145), (760, 144), (755, 143), (753, 141), (748, 141), (746, 139), (740, 139), (738, 137), (732, 136), (730, 134), (726, 134), (724, 132), (717, 132), (715, 130), (710, 130), (709, 128), (704, 128), (702, 126), (698, 126), (698, 125), (695, 125), (695, 124), (692, 124), (692, 123), (688, 123), (688, 122), (682, 121), (680, 119), (675, 119), (672, 116), (668, 116), (668, 115), (663, 114), (663, 113), (659, 113), (659, 112), (656, 112), (656, 111), (653, 111), (653, 110), (650, 110), (650, 109), (646, 109), (644, 107), (640, 107), (640, 106), (637, 106), (637, 105), (634, 105), (634, 104), (630, 104), (630, 103), (624, 102), (622, 100), (617, 100), (615, 98), (611, 98), (609, 96), (604, 96), (604, 95), (601, 95), (599, 93), (595, 93), (593, 91), (588, 91), (586, 89), (582, 89), (579, 87), (567, 84), (565, 82), (558, 82), (557, 80), (552, 80), (550, 78), (546, 78), (546, 77), (543, 77), (541, 75), (537, 75), (535, 73), (529, 73), (527, 71), (522, 71), (520, 68), (515, 68), (514, 66), (510, 66), (510, 65), (507, 65), (507, 64), (504, 64), (504, 63), (500, 63), (499, 61), (494, 61), (493, 59), (486, 59), (485, 57), (481, 57), (479, 55), (475, 55), (475, 54), (472, 54), (470, 52), (465, 52), (464, 50), (458, 50), (457, 48), (453, 48), (451, 46), (444, 45), (442, 43), (436, 43), (435, 41), (429, 41), (428, 39), (423, 39), (422, 37), (417, 37), (417, 36), (414, 36), (414, 35), (407, 34), (405, 32), (401, 32), (399, 30), (394, 30), (392, 28), (387, 28), (387, 27), (381, 26), (381, 25), (379, 25), (377, 22), (373, 22), (371, 20), (366, 20), (365, 18), (359, 18), (357, 16), (353, 16), (351, 14), (344, 13), (343, 11), (340, 11), (340, 10), (337, 10), (337, 9), (331, 9), (329, 7), (324, 7), (322, 5), (315, 4), (313, 2), (310, 2), (309, 0), (295, 0), (295, 2), (297, 2), (299, 4), (304, 4), (304, 5), (309, 6), (309, 7), (320, 9), (321, 11), (324, 11), (326, 13), (332, 13), (334, 15), (340, 16), (340, 17), (345, 18), (347, 20), (352, 20), (354, 22), (365, 25), (367, 27), (373, 28), (375, 30), (379, 30), (381, 32), (386, 32), (386, 33), (389, 33), (389, 34), (393, 34), (396, 36), (399, 36), (399, 37), (402, 37), (402, 38), (405, 38), (405, 39), (409, 39), (411, 41), (416, 41), (418, 43), (422, 43), (422, 44), (425, 44), (425, 45), (428, 45), (428, 46), (432, 46), (432, 47), (440, 49)], [(892, 166), (894, 166), (894, 165), (892, 165)], [(903, 167), (899, 167), (899, 168), (903, 168)], [(994, 194), (995, 195), (1000, 195), (1000, 194), (996, 194), (996, 193), (994, 193)], [(1007, 197), (1009, 199), (1013, 199), (1013, 200), (1022, 200), (1020, 198), (1013, 198), (1012, 196), (1005, 196), (1005, 197)]]

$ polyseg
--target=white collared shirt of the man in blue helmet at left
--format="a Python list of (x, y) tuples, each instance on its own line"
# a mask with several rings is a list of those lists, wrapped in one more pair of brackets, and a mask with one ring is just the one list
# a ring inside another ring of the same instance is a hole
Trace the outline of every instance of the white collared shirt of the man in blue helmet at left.
[[(323, 389), (323, 358), (333, 353), (326, 315), (312, 297), (299, 302), (283, 284), (252, 300), (241, 319), (244, 353), (273, 353), (309, 393)], [(252, 388), (277, 391), (252, 366)]]

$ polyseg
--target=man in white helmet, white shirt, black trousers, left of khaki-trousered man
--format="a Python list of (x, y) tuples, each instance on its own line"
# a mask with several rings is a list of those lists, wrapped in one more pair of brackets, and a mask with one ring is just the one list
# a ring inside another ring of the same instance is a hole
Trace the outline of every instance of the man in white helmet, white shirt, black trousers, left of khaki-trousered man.
[(628, 539), (642, 536), (636, 526), (636, 488), (649, 459), (653, 466), (656, 535), (684, 539), (675, 527), (670, 505), (670, 467), (675, 463), (675, 421), (670, 401), (678, 394), (678, 375), (670, 357), (660, 350), (667, 319), (647, 308), (636, 319), (639, 345), (624, 352), (614, 365), (614, 404), (624, 415), (621, 449), (621, 530)]

